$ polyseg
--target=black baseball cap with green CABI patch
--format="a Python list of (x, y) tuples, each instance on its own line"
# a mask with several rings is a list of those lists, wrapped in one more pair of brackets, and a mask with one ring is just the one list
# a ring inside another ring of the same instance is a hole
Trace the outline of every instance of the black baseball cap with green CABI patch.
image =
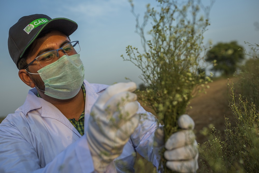
[(50, 18), (44, 14), (34, 14), (21, 17), (16, 24), (9, 29), (8, 50), (18, 68), (18, 62), (24, 52), (46, 30), (59, 30), (70, 36), (76, 29), (77, 23), (67, 18)]

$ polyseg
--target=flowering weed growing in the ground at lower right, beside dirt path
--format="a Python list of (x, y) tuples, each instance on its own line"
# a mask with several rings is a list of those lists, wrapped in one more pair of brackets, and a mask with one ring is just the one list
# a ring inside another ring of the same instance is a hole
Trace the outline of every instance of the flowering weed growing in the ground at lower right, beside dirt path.
[(205, 160), (200, 160), (200, 172), (258, 172), (258, 108), (241, 95), (236, 102), (232, 80), (228, 79), (227, 85), (232, 98), (229, 107), (233, 111), (236, 125), (233, 127), (229, 119), (225, 118), (225, 136), (220, 137), (213, 127), (209, 140), (199, 144), (200, 155)]

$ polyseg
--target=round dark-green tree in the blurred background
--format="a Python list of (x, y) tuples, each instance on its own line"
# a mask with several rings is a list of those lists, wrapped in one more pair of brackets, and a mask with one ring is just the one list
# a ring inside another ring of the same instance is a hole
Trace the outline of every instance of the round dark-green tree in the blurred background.
[(238, 45), (236, 41), (230, 43), (218, 43), (214, 45), (208, 52), (205, 61), (217, 61), (212, 70), (222, 72), (224, 75), (232, 75), (238, 63), (244, 59), (243, 47)]

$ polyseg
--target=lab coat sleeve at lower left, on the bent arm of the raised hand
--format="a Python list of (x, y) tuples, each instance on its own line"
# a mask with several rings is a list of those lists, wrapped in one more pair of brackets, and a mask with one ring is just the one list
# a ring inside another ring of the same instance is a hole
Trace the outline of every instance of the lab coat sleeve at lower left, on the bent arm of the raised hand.
[(93, 172), (92, 158), (85, 136), (40, 168), (37, 152), (11, 123), (0, 125), (0, 172)]

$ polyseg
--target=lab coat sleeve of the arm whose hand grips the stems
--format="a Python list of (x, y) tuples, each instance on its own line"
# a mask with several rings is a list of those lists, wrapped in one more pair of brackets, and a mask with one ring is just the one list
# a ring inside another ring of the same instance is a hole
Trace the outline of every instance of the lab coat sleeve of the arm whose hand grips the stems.
[(149, 162), (152, 162), (154, 166), (159, 166), (160, 148), (153, 147), (154, 133), (157, 127), (161, 126), (156, 117), (150, 112), (145, 111), (139, 104), (140, 114), (139, 126), (135, 129), (131, 135), (131, 140), (135, 150)]

